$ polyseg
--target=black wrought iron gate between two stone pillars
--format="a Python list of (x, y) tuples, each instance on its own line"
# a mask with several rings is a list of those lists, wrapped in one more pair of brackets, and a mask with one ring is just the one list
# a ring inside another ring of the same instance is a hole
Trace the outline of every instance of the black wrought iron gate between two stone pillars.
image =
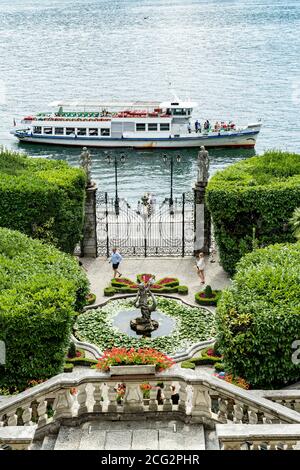
[[(126, 256), (191, 256), (194, 253), (194, 195), (184, 193), (172, 207), (162, 204), (135, 208), (107, 193), (97, 194), (98, 256), (109, 256), (117, 247)], [(118, 215), (116, 214), (118, 213)]]

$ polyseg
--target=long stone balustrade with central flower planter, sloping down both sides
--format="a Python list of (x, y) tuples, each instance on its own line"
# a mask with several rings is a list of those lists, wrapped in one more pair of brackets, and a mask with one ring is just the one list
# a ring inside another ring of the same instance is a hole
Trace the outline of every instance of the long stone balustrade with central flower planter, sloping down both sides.
[[(142, 383), (152, 386), (149, 399), (143, 398)], [(118, 391), (119, 384), (126, 386), (122, 396)], [(163, 384), (162, 400), (158, 400), (158, 384)], [(179, 393), (178, 404), (172, 401), (174, 384)], [(0, 402), (0, 439), (1, 427), (36, 425), (36, 432), (45, 435), (50, 427), (53, 430), (62, 423), (75, 425), (91, 419), (134, 420), (141, 414), (155, 419), (165, 417), (203, 423), (210, 428), (216, 423), (300, 425), (300, 414), (295, 409), (271, 401), (269, 391), (264, 394), (268, 398), (208, 373), (196, 373), (178, 366), (156, 374), (139, 374), (137, 368), (137, 375), (125, 376), (78, 369), (71, 374), (57, 375)]]

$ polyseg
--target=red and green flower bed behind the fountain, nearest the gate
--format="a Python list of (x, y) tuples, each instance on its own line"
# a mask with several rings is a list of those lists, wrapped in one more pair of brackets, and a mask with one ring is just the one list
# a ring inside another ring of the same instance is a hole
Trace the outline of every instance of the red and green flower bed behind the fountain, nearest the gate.
[[(150, 273), (138, 274), (136, 281), (132, 281), (126, 277), (119, 277), (111, 280), (110, 287), (104, 289), (104, 294), (106, 296), (118, 294), (131, 294), (138, 291), (138, 284), (145, 283), (147, 284), (151, 279), (155, 280), (155, 275)], [(187, 288), (181, 289), (179, 285), (179, 280), (176, 277), (163, 277), (162, 279), (153, 282), (150, 289), (152, 292), (159, 293), (187, 293)], [(114, 289), (115, 292), (112, 290)]]

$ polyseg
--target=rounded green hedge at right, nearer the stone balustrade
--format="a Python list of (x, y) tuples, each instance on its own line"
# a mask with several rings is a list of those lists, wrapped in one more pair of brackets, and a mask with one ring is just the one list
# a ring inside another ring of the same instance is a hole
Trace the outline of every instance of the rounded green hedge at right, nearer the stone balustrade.
[(237, 265), (217, 307), (226, 370), (252, 387), (300, 380), (292, 343), (300, 339), (300, 243), (255, 250)]

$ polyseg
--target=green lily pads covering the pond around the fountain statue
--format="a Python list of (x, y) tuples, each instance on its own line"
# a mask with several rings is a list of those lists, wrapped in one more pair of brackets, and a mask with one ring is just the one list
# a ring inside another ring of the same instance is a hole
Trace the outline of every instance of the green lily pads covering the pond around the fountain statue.
[(158, 297), (157, 302), (157, 310), (176, 321), (168, 336), (133, 337), (114, 326), (114, 318), (120, 311), (134, 308), (132, 298), (111, 300), (102, 307), (81, 313), (76, 319), (74, 334), (80, 341), (96, 344), (102, 351), (113, 347), (133, 347), (154, 348), (167, 354), (215, 336), (214, 314), (209, 310), (164, 297)]

